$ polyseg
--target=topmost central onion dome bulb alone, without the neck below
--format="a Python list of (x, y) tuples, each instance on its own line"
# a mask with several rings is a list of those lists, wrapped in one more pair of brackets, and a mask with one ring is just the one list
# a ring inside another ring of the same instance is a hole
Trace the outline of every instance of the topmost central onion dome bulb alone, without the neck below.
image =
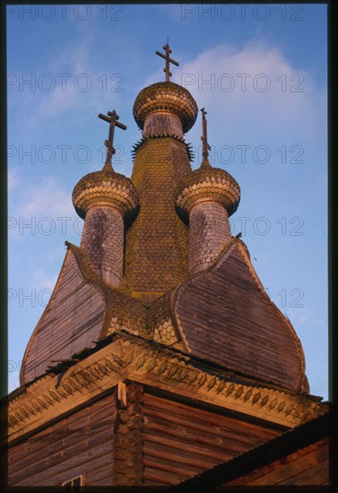
[(182, 122), (183, 132), (195, 124), (197, 104), (189, 91), (175, 82), (157, 82), (144, 88), (134, 102), (133, 115), (143, 130), (145, 118), (156, 111), (169, 111)]

